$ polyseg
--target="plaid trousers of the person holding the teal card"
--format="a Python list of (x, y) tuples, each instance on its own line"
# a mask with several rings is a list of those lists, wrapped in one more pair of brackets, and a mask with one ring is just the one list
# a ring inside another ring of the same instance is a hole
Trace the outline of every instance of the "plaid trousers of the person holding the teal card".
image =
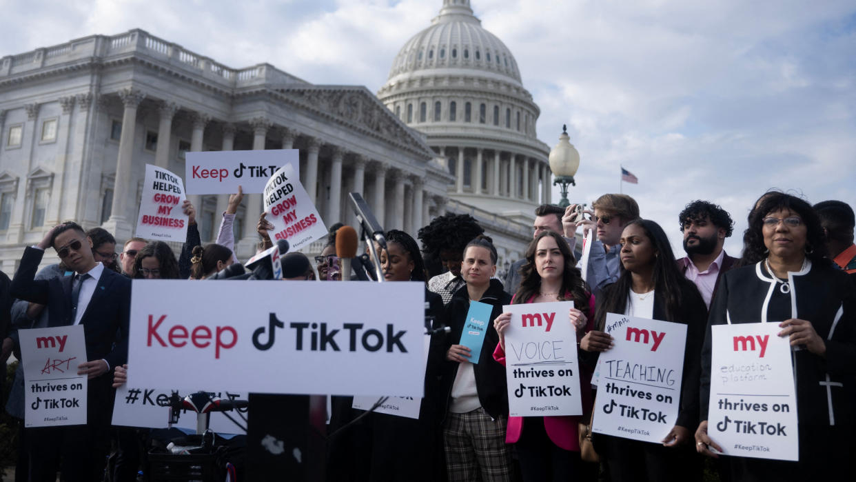
[(467, 414), (449, 412), (443, 425), (443, 449), (449, 482), (512, 482), (511, 449), (505, 443), (508, 420), (492, 420), (477, 408)]

